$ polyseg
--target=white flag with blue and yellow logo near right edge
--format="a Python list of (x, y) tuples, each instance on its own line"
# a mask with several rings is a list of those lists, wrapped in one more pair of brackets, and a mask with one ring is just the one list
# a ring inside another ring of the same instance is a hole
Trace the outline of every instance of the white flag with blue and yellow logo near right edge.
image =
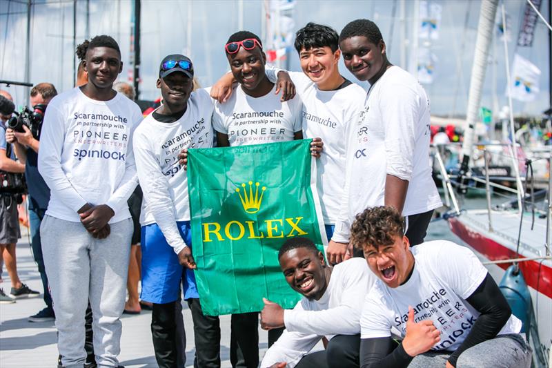
[(510, 88), (506, 87), (506, 96), (508, 90), (511, 90), (511, 97), (520, 101), (533, 101), (539, 89), (540, 70), (524, 57), (515, 54), (513, 57), (512, 77)]

